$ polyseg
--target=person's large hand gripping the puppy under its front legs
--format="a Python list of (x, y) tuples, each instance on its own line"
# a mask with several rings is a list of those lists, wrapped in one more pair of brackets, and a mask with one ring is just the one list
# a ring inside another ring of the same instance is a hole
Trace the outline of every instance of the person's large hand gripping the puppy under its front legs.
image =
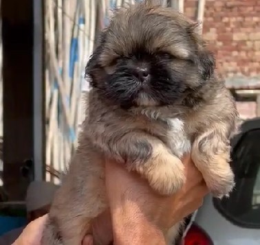
[[(127, 172), (118, 163), (107, 162), (106, 185), (113, 229), (109, 211), (102, 213), (94, 220), (94, 240), (98, 244), (109, 244), (113, 240), (113, 235), (122, 234), (133, 242), (133, 239), (139, 239), (137, 234), (144, 238), (145, 233), (149, 231), (149, 226), (153, 226), (151, 239), (154, 240), (156, 231), (169, 229), (198, 209), (208, 189), (202, 174), (197, 170), (190, 156), (184, 157), (183, 164), (188, 181), (175, 195), (160, 196), (137, 174)], [(129, 231), (134, 237), (129, 234)], [(83, 244), (93, 244), (93, 237), (87, 235)]]

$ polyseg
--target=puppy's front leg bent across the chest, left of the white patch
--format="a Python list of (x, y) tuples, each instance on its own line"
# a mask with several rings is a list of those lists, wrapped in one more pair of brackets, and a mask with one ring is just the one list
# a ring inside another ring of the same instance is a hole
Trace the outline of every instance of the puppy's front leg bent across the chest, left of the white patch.
[(151, 187), (160, 194), (173, 194), (184, 183), (182, 161), (160, 139), (146, 132), (116, 132), (109, 137), (103, 134), (102, 141), (96, 137), (94, 144), (109, 158), (124, 163), (128, 170), (147, 178)]

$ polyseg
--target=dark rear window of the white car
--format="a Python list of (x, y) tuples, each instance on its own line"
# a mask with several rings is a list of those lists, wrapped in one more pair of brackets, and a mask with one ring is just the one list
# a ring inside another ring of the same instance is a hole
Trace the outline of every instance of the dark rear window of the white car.
[(260, 229), (260, 129), (246, 132), (231, 155), (235, 190), (214, 198), (215, 207), (234, 224)]

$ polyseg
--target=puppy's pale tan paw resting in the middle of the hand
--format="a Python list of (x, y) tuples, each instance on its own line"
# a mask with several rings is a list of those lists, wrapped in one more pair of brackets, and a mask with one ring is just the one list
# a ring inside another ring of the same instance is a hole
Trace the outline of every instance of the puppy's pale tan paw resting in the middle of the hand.
[(151, 187), (162, 195), (174, 194), (185, 182), (182, 161), (169, 152), (158, 154), (151, 159), (149, 168), (144, 173)]

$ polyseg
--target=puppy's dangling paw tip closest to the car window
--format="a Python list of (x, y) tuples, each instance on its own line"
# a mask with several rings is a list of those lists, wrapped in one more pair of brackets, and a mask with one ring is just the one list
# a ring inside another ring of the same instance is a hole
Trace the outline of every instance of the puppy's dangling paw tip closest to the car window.
[(206, 185), (215, 198), (222, 198), (230, 194), (235, 186), (234, 178), (228, 163), (226, 163), (226, 167), (216, 167), (216, 170), (210, 170), (206, 176), (204, 174)]

